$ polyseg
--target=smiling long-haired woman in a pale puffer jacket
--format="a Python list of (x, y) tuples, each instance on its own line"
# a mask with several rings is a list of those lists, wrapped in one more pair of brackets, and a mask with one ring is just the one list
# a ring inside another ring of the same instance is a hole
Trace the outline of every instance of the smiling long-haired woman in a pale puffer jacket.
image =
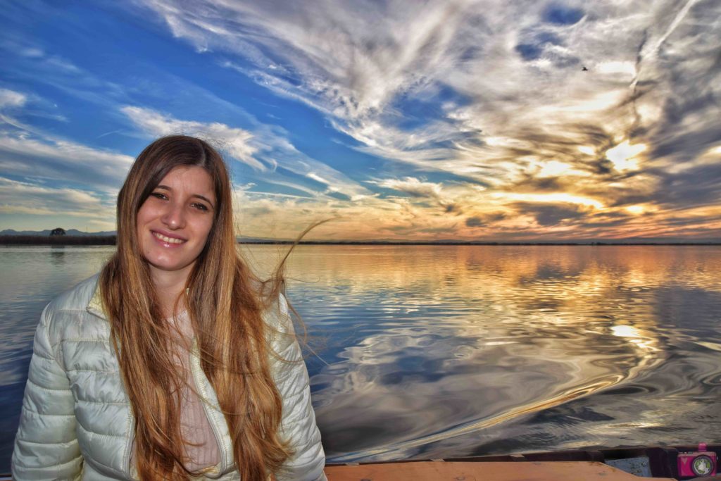
[(117, 252), (43, 311), (14, 479), (324, 480), (280, 281), (236, 251), (221, 156), (186, 136), (146, 147)]

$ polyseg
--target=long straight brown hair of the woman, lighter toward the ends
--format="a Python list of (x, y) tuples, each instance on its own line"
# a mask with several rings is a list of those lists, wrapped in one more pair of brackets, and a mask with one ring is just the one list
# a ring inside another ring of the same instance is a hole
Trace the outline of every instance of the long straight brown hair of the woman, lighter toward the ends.
[(187, 136), (159, 138), (131, 167), (118, 195), (118, 250), (100, 275), (111, 339), (130, 398), (135, 459), (141, 479), (185, 479), (180, 402), (185, 382), (172, 358), (173, 327), (164, 319), (138, 245), (136, 216), (174, 167), (203, 167), (216, 195), (213, 227), (187, 279), (185, 305), (198, 340), (200, 365), (224, 412), (241, 478), (265, 480), (291, 454), (278, 436), (282, 400), (268, 363), (261, 313), (281, 288), (255, 278), (236, 250), (231, 182), (208, 143)]

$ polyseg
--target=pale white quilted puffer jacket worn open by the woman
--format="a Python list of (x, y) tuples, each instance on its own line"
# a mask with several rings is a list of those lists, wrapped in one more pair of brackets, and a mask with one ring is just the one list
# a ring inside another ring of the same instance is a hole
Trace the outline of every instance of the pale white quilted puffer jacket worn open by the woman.
[[(12, 454), (14, 480), (131, 480), (134, 418), (110, 343), (110, 323), (100, 301), (98, 275), (81, 282), (45, 307), (35, 332), (22, 415)], [(280, 431), (296, 454), (278, 480), (325, 480), (325, 456), (311, 406), (308, 372), (301, 358), (288, 305), (264, 314), (277, 330), (270, 358), (283, 397)], [(200, 394), (209, 400), (205, 414), (221, 449), (221, 462), (206, 477), (239, 480), (234, 469), (228, 425), (216, 394), (200, 368), (193, 342), (190, 368)]]

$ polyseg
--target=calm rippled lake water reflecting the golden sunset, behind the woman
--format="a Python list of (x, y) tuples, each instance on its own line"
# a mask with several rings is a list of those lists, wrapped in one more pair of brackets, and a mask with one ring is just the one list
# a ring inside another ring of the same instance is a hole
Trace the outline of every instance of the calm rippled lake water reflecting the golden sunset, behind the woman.
[[(43, 306), (110, 252), (0, 246), (0, 471)], [(720, 273), (713, 246), (298, 247), (329, 460), (719, 442)]]

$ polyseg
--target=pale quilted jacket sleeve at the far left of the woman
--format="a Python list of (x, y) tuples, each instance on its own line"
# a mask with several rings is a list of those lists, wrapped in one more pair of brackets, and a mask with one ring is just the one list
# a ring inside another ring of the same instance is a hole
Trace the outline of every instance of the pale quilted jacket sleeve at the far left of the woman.
[(35, 331), (20, 425), (12, 452), (14, 480), (79, 479), (82, 456), (75, 434), (73, 395), (50, 340), (50, 309)]

